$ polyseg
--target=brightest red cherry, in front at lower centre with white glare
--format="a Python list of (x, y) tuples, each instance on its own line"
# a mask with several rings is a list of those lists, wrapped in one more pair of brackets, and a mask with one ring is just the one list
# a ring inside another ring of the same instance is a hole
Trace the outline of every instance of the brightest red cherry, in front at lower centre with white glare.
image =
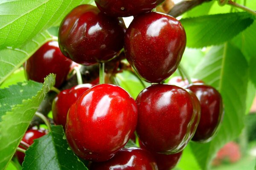
[(83, 159), (106, 161), (125, 146), (136, 124), (136, 103), (124, 89), (110, 84), (96, 85), (70, 107), (67, 142)]

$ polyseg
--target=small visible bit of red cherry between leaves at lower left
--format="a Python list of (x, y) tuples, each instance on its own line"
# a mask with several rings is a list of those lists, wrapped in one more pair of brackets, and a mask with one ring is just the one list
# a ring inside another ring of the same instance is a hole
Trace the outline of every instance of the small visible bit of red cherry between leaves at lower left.
[[(31, 144), (34, 143), (34, 139), (38, 139), (38, 138), (44, 136), (45, 134), (46, 133), (44, 130), (33, 130), (33, 129), (27, 130), (25, 135), (22, 138), (22, 142), (25, 142), (26, 146), (29, 147)], [(26, 149), (21, 145), (19, 145), (19, 147), (22, 149)], [(22, 164), (22, 162), (24, 161), (25, 154), (17, 151), (16, 155), (17, 155), (17, 159), (20, 162), (20, 164)]]

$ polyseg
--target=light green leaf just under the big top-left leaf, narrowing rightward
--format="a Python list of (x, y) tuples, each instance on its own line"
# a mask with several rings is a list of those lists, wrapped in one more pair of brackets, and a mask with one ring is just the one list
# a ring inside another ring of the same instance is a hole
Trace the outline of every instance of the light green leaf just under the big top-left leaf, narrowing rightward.
[[(0, 50), (0, 83), (17, 70), (45, 42), (52, 40), (48, 32), (38, 34), (19, 48), (6, 47)], [(10, 57), (11, 56), (11, 57)]]

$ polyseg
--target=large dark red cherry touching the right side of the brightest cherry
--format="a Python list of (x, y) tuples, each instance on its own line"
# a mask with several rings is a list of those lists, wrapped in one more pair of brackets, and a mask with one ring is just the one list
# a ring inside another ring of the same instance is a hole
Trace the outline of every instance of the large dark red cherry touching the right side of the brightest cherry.
[(140, 92), (137, 134), (151, 152), (173, 154), (186, 147), (198, 124), (192, 96), (175, 85), (151, 85)]

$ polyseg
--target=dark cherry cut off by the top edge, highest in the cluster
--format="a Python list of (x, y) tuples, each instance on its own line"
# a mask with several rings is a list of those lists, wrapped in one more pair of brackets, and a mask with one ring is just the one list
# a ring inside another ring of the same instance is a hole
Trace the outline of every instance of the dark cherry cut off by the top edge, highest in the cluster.
[(100, 11), (115, 17), (142, 14), (157, 7), (164, 0), (95, 0)]

